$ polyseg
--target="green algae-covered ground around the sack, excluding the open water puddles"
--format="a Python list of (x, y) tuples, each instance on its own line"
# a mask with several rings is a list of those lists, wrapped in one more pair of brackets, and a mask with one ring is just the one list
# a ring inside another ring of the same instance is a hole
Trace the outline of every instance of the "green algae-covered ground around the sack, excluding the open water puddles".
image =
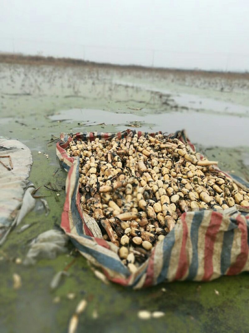
[[(146, 112), (151, 114), (158, 110), (167, 114), (172, 110), (162, 105), (160, 96), (153, 91), (115, 84), (114, 81), (122, 80), (133, 84), (143, 83), (142, 75), (138, 77), (137, 73), (133, 75), (128, 70), (126, 73), (125, 69), (115, 72), (98, 67), (90, 70), (84, 67), (0, 64), (0, 70), (0, 136), (18, 139), (31, 149), (34, 163), (30, 180), (36, 187), (41, 186), (38, 193), (46, 197), (50, 207), (47, 217), (44, 213), (28, 214), (0, 248), (0, 331), (66, 332), (77, 303), (86, 298), (88, 305), (80, 316), (78, 332), (249, 332), (247, 273), (222, 277), (209, 283), (164, 283), (133, 291), (115, 284), (105, 285), (95, 277), (86, 260), (77, 255), (70, 244), (68, 252), (55, 260), (40, 260), (31, 267), (15, 263), (17, 257), (25, 258), (30, 240), (60, 224), (64, 190), (59, 191), (60, 196), (57, 196), (42, 186), (51, 182), (58, 189), (63, 189), (65, 185), (66, 172), (60, 168), (55, 143), (50, 139), (58, 138), (60, 132), (76, 132), (78, 122), (52, 122), (49, 115), (73, 108), (105, 109), (110, 111), (111, 120), (113, 112), (131, 112), (128, 106), (146, 108)], [(205, 90), (191, 88), (184, 83), (173, 85), (167, 78), (159, 80), (152, 74), (146, 76), (145, 73), (145, 77), (146, 84), (151, 87), (160, 86), (198, 96), (228, 99), (227, 95), (224, 97), (210, 85)], [(234, 91), (229, 95), (229, 100), (249, 105), (248, 96), (245, 91)], [(79, 119), (80, 122), (84, 120)], [(106, 123), (112, 122), (107, 120)], [(83, 127), (81, 130), (93, 128)], [(103, 131), (101, 126), (94, 127), (94, 130)], [(116, 131), (116, 125), (108, 125), (104, 131)], [(191, 138), (191, 133), (188, 134)], [(206, 146), (198, 145), (197, 149), (209, 159), (220, 161), (220, 168), (233, 170), (248, 179), (248, 146), (236, 149), (208, 147), (207, 142)], [(38, 151), (48, 154), (49, 158), (38, 154)], [(22, 233), (16, 232), (27, 223), (34, 225)], [(54, 274), (63, 270), (74, 258), (74, 264), (68, 269), (70, 276), (65, 277), (55, 291), (50, 291)], [(22, 278), (19, 290), (13, 289), (13, 273), (18, 273)], [(162, 288), (166, 291), (162, 291)], [(69, 292), (76, 294), (73, 300), (67, 298)], [(60, 297), (60, 302), (55, 304), (53, 299), (56, 296)], [(166, 315), (160, 319), (142, 321), (137, 318), (137, 311), (141, 309), (164, 311)], [(92, 317), (94, 310), (98, 313), (97, 319)]]

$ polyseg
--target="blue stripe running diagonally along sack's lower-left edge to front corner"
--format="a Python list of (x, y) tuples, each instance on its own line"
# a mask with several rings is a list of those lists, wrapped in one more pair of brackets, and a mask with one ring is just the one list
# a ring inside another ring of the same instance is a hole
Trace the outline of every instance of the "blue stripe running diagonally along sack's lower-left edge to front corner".
[[(83, 237), (85, 238), (86, 236), (84, 235)], [(84, 246), (80, 244), (76, 239), (71, 238), (71, 241), (79, 251), (90, 254), (104, 267), (114, 270), (115, 272), (119, 272), (123, 274), (125, 277), (128, 277), (130, 275), (128, 268), (124, 266), (124, 264), (120, 260), (109, 257), (108, 255), (102, 253), (101, 251), (97, 251), (94, 250), (93, 248)]]

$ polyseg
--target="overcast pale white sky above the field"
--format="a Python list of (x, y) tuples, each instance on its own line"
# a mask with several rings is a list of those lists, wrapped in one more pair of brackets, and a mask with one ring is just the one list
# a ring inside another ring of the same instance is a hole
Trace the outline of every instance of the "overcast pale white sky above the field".
[(0, 51), (249, 70), (249, 0), (0, 0)]

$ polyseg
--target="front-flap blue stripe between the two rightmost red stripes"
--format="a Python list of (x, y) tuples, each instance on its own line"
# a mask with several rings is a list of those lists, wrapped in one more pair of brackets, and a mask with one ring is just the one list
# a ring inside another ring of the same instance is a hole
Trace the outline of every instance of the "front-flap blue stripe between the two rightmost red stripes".
[(237, 229), (236, 219), (231, 217), (227, 231), (224, 232), (220, 256), (220, 273), (224, 275), (231, 264), (231, 250), (233, 245), (234, 229)]

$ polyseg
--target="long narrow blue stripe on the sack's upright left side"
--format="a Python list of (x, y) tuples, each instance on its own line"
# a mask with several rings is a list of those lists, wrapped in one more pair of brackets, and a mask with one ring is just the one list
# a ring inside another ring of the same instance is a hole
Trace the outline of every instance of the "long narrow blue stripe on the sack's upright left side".
[[(77, 205), (76, 205), (76, 200), (77, 200), (77, 193), (78, 193), (78, 180), (79, 180), (79, 158), (77, 159), (77, 167), (73, 170), (75, 173), (75, 183), (73, 184), (74, 190), (72, 194), (72, 199), (71, 199), (71, 212), (72, 212), (72, 219), (73, 223), (75, 225), (77, 234), (79, 236), (84, 236), (83, 233), (83, 224), (82, 224), (82, 219), (81, 216), (78, 212)], [(71, 175), (72, 177), (72, 175)]]

